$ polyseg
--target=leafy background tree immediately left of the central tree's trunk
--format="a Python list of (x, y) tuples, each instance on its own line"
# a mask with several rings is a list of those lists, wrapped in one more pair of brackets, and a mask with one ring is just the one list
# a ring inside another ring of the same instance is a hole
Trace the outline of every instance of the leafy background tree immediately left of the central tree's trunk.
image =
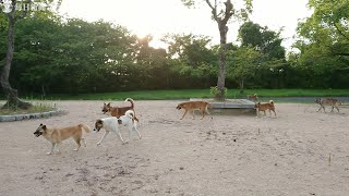
[[(217, 58), (209, 48), (210, 39), (206, 36), (167, 35), (163, 41), (168, 44), (168, 56), (171, 68), (181, 76), (181, 79), (192, 87), (210, 86), (217, 75)], [(183, 79), (185, 77), (185, 79)], [(188, 87), (185, 84), (182, 88)]]

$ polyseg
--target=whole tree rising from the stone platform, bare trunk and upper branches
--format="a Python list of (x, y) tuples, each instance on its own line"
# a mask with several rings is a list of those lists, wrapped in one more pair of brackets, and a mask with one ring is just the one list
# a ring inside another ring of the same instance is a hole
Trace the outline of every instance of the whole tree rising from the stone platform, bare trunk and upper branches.
[[(185, 5), (192, 7), (195, 3), (195, 0), (181, 0)], [(231, 0), (226, 0), (225, 2), (215, 0), (204, 0), (212, 11), (212, 17), (217, 22), (219, 36), (220, 36), (220, 47), (218, 54), (218, 79), (217, 79), (217, 90), (218, 94), (215, 96), (217, 100), (224, 100), (225, 94), (225, 79), (226, 79), (226, 56), (227, 56), (227, 33), (228, 33), (228, 22), (234, 16), (237, 19), (246, 19), (248, 13), (252, 12), (252, 0), (243, 0), (244, 8), (238, 10), (231, 3)]]

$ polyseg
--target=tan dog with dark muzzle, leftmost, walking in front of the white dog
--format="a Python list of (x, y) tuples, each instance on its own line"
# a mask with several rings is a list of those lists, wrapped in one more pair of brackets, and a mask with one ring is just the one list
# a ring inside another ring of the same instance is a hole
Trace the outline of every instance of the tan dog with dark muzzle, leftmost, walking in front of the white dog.
[(85, 124), (77, 124), (75, 126), (60, 127), (60, 128), (48, 128), (46, 125), (40, 124), (39, 127), (36, 128), (34, 135), (36, 137), (43, 135), (47, 140), (52, 143), (51, 151), (47, 152), (47, 155), (51, 155), (55, 152), (57, 148), (57, 152), (59, 152), (59, 144), (63, 140), (73, 137), (75, 143), (77, 144), (77, 148), (74, 151), (77, 151), (81, 147), (81, 142), (84, 142), (84, 146), (86, 147), (86, 142), (83, 137), (83, 131), (86, 133), (91, 132), (89, 126)]

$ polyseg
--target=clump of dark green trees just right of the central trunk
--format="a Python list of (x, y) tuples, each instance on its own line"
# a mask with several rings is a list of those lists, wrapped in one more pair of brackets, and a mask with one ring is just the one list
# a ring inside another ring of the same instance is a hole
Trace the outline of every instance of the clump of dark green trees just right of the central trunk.
[[(280, 32), (269, 30), (253, 22), (246, 22), (240, 27), (241, 47), (230, 54), (232, 60), (228, 73), (230, 77), (240, 81), (241, 91), (244, 82), (248, 82), (245, 86), (249, 87), (287, 86), (286, 75), (290, 68), (285, 59)], [(260, 83), (251, 84), (251, 81)]]

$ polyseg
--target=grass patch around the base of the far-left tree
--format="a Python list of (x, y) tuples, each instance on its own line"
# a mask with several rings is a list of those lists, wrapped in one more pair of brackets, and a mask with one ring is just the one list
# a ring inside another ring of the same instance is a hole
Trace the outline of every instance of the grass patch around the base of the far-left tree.
[(47, 102), (36, 102), (27, 109), (20, 109), (20, 108), (2, 108), (0, 109), (0, 115), (14, 115), (14, 114), (27, 114), (27, 113), (40, 113), (40, 112), (49, 112), (56, 109), (56, 106)]

